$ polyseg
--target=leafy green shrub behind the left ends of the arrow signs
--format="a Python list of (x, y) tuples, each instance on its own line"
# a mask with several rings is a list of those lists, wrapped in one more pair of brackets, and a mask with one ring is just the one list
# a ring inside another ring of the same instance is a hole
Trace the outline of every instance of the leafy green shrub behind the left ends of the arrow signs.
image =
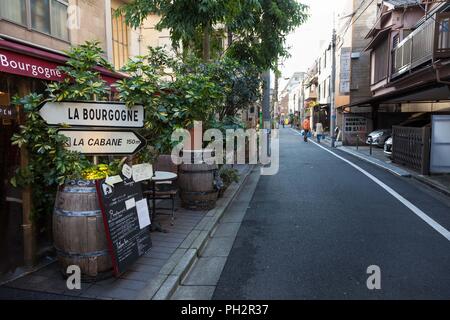
[(66, 65), (59, 67), (65, 79), (50, 83), (47, 97), (31, 93), (14, 99), (14, 104), (23, 106), (25, 123), (13, 136), (12, 143), (27, 150), (28, 164), (17, 170), (11, 184), (32, 189), (31, 217), (35, 221), (53, 211), (58, 186), (68, 180), (80, 179), (84, 170), (92, 166), (85, 156), (64, 148), (67, 138), (41, 118), (41, 104), (45, 101), (106, 99), (110, 94), (109, 87), (95, 69), (97, 66), (109, 67), (97, 42), (73, 47), (67, 55)]

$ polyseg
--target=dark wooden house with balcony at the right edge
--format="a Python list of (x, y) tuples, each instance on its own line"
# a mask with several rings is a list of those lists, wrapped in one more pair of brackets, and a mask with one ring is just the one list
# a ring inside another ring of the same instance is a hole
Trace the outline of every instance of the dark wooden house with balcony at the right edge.
[(383, 1), (367, 38), (376, 125), (392, 128), (393, 160), (450, 172), (450, 3)]

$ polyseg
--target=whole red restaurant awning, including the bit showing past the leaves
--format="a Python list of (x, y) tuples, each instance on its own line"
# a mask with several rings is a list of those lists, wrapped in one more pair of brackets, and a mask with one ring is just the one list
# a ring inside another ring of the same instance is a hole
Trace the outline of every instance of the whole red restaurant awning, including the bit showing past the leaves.
[[(64, 75), (58, 66), (64, 65), (68, 57), (20, 42), (0, 37), (0, 72), (49, 81), (61, 81)], [(103, 80), (112, 85), (123, 79), (124, 74), (96, 67)]]

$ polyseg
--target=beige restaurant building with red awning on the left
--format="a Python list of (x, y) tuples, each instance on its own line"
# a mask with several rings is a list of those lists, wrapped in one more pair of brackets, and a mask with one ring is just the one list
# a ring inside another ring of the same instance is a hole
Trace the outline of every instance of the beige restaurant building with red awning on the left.
[[(11, 145), (24, 119), (14, 96), (44, 93), (46, 84), (63, 78), (58, 66), (72, 45), (98, 41), (118, 70), (140, 54), (141, 30), (131, 30), (114, 11), (119, 0), (8, 0), (0, 2), (0, 274), (31, 266), (51, 243), (30, 219), (32, 190), (9, 183), (16, 169), (26, 165), (26, 150)], [(112, 84), (123, 75), (99, 68)]]

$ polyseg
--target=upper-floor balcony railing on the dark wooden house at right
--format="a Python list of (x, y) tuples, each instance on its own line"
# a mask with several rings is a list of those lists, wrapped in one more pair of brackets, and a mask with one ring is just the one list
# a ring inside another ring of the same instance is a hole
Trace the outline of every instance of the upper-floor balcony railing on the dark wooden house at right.
[(448, 13), (434, 15), (400, 42), (392, 53), (392, 78), (426, 62), (450, 58), (449, 21)]

